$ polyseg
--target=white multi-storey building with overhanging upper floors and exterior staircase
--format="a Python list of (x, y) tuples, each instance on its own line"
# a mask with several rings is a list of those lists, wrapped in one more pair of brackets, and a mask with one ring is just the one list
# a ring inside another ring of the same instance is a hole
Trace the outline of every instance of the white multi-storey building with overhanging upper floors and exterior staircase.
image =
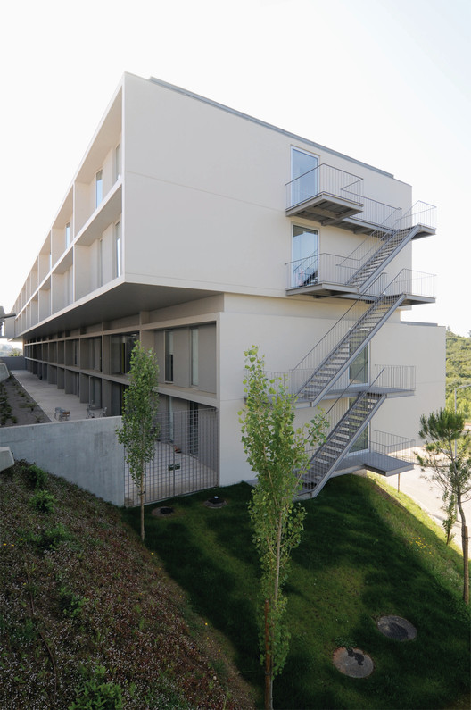
[[(162, 436), (222, 485), (253, 478), (237, 411), (258, 345), (288, 373), (299, 422), (332, 407), (307, 483), (318, 491), (335, 472), (407, 469), (392, 454), (444, 401), (444, 329), (401, 322), (434, 300), (434, 278), (411, 271), (430, 234), (434, 208), (391, 174), (125, 74), (6, 334), (32, 372), (111, 415), (136, 338), (153, 347)], [(203, 441), (206, 411), (219, 432)]]

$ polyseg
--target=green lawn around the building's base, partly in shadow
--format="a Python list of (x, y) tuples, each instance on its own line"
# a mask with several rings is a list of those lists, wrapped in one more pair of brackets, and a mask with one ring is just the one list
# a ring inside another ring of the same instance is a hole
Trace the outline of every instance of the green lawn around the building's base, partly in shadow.
[[(168, 501), (170, 518), (146, 508), (146, 545), (184, 587), (194, 610), (236, 648), (244, 678), (259, 689), (258, 561), (249, 529), (251, 489), (214, 491), (226, 507), (202, 505), (207, 493)], [(277, 708), (467, 707), (469, 613), (460, 599), (461, 561), (437, 534), (386, 496), (372, 480), (329, 481), (308, 511), (286, 591), (292, 633), (285, 670), (274, 685)], [(139, 512), (124, 512), (138, 528)], [(397, 642), (376, 630), (395, 614), (417, 628)], [(367, 679), (343, 676), (336, 647), (360, 647), (373, 658)]]

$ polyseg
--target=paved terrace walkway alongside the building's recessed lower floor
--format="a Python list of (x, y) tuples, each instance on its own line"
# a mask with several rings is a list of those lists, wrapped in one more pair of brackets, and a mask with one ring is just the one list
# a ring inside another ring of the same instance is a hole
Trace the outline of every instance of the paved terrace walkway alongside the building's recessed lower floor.
[(80, 402), (75, 395), (66, 395), (63, 389), (58, 389), (56, 385), (50, 385), (45, 380), (39, 380), (37, 375), (28, 370), (11, 370), (10, 372), (41, 407), (51, 422), (57, 422), (54, 413), (58, 406), (70, 412), (70, 422), (87, 419), (87, 403)]

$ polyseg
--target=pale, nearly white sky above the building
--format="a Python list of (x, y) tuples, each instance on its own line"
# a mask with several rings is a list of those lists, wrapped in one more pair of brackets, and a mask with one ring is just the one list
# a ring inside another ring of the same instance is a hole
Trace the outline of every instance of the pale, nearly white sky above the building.
[[(392, 172), (437, 206), (413, 268), (471, 330), (469, 0), (2, 3), (0, 305), (9, 312), (124, 71)], [(466, 216), (466, 215), (465, 215)]]

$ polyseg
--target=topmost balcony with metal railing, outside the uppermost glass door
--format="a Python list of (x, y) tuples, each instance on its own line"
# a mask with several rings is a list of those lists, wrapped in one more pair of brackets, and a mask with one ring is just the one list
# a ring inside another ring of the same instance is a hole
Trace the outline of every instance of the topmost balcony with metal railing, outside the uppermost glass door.
[(286, 185), (286, 216), (340, 224), (363, 209), (363, 179), (322, 163)]

